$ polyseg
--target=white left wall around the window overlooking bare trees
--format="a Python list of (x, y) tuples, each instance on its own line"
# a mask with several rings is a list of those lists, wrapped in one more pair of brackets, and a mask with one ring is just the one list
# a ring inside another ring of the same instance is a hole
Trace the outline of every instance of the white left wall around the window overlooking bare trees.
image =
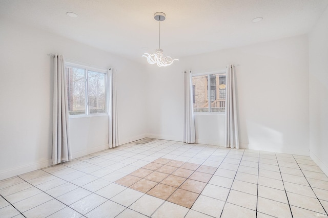
[[(145, 69), (137, 63), (0, 19), (0, 180), (51, 164), (53, 58), (117, 71), (120, 144), (144, 138)], [(105, 149), (108, 117), (70, 119), (73, 157)]]

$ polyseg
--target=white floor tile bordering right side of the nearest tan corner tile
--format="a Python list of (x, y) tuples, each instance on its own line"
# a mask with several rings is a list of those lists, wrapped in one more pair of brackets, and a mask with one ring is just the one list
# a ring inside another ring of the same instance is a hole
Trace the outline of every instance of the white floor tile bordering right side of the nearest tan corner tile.
[(206, 213), (210, 216), (220, 217), (223, 206), (223, 201), (199, 195), (198, 199), (192, 206), (192, 209), (201, 213)]

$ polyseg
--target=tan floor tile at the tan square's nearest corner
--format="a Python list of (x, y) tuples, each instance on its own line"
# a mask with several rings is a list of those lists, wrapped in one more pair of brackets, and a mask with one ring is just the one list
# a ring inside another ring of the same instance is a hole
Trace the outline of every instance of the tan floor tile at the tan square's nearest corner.
[(167, 201), (181, 205), (183, 207), (191, 208), (198, 196), (199, 194), (195, 192), (178, 188)]

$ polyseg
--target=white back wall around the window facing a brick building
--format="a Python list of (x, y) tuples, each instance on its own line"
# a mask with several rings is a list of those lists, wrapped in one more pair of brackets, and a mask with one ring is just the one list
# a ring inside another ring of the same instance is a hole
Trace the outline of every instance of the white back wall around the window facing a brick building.
[[(306, 35), (180, 58), (159, 71), (150, 66), (147, 136), (181, 141), (183, 71), (224, 70), (229, 63), (239, 64), (235, 69), (241, 147), (309, 155)], [(199, 143), (223, 144), (224, 115), (196, 115), (195, 122)]]

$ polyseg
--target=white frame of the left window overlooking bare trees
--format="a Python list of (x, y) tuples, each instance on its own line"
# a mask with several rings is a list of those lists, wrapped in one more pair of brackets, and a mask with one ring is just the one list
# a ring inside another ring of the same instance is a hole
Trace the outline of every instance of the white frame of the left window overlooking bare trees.
[[(94, 68), (91, 66), (86, 66), (83, 64), (78, 64), (70, 61), (65, 61), (65, 69), (66, 67), (73, 67), (78, 69), (84, 69), (85, 70), (85, 107), (86, 107), (86, 113), (85, 114), (69, 114), (69, 118), (79, 118), (79, 117), (97, 117), (97, 116), (107, 116), (108, 110), (109, 110), (109, 86), (108, 86), (108, 70), (106, 68), (100, 69), (100, 68)], [(88, 71), (96, 72), (96, 73), (103, 73), (105, 74), (105, 113), (97, 113), (97, 114), (90, 114), (90, 105), (89, 105), (89, 80), (88, 80)], [(65, 70), (65, 76), (66, 76), (66, 70)], [(68, 94), (68, 92), (67, 92)]]

